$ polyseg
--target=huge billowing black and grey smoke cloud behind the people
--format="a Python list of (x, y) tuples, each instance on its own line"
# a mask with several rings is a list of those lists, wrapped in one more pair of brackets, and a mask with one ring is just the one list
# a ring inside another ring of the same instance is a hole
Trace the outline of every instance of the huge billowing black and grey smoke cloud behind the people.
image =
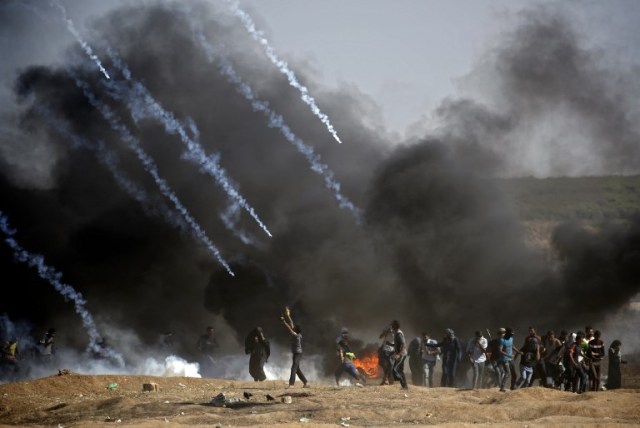
[[(335, 144), (222, 3), (123, 2), (91, 23), (82, 36), (114, 84), (127, 83), (109, 48), (209, 156), (219, 156), (273, 234), (245, 212), (225, 225), (221, 215), (232, 201), (183, 158), (177, 134), (157, 120), (138, 120), (115, 99), (56, 9), (0, 6), (2, 35), (16, 39), (12, 63), (2, 66), (0, 210), (16, 240), (82, 292), (116, 348), (129, 346), (129, 329), (149, 346), (171, 330), (178, 353), (190, 356), (212, 323), (223, 348), (235, 349), (256, 325), (286, 343), (278, 325), (285, 304), (303, 326), (306, 346), (319, 353), (332, 349), (341, 325), (373, 340), (394, 318), (408, 334), (436, 337), (445, 327), (464, 334), (498, 325), (580, 328), (603, 321), (639, 291), (637, 218), (596, 235), (578, 225), (559, 228), (553, 243), (562, 263), (554, 269), (527, 246), (495, 180), (640, 172), (639, 87), (628, 85), (628, 70), (599, 61), (558, 10), (522, 12), (463, 79), (469, 97), (443, 100), (423, 126), (429, 131), (402, 144), (371, 124), (377, 107), (357, 82), (327, 89), (314, 82), (314, 70), (296, 68), (344, 142)], [(331, 168), (341, 192), (364, 210), (362, 224), (209, 63), (194, 23)], [(22, 24), (43, 34), (18, 31)], [(57, 49), (40, 60), (47, 34)], [(234, 277), (185, 229), (76, 79), (137, 138)], [(69, 133), (60, 132), (63, 124)], [(87, 144), (74, 145), (70, 135)], [(107, 158), (117, 159), (111, 170)], [(138, 186), (138, 199), (123, 177)], [(240, 232), (247, 239), (238, 239)], [(6, 245), (0, 266), (0, 314), (28, 320), (36, 336), (56, 326), (66, 346), (86, 346), (71, 305), (15, 262)]]

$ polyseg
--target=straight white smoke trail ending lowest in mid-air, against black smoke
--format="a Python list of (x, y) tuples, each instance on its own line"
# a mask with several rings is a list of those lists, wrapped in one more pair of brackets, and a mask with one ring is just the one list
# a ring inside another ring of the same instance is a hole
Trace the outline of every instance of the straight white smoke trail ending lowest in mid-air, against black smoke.
[(120, 138), (127, 144), (127, 146), (136, 154), (140, 162), (144, 165), (145, 170), (151, 174), (153, 180), (156, 185), (162, 192), (162, 194), (169, 199), (175, 206), (176, 210), (182, 214), (184, 220), (191, 226), (191, 229), (196, 234), (198, 238), (205, 244), (207, 249), (213, 254), (213, 256), (218, 260), (218, 262), (226, 269), (227, 273), (231, 276), (235, 276), (229, 264), (225, 261), (220, 254), (220, 250), (211, 242), (211, 239), (207, 236), (202, 227), (198, 224), (198, 222), (193, 218), (193, 216), (189, 213), (187, 208), (182, 204), (178, 196), (171, 190), (169, 184), (160, 177), (160, 173), (158, 172), (158, 167), (151, 157), (140, 147), (138, 140), (129, 132), (129, 129), (123, 125), (115, 113), (105, 104), (100, 103), (95, 95), (89, 89), (89, 85), (86, 82), (79, 80), (78, 78), (74, 78), (76, 85), (78, 88), (82, 89), (85, 97), (94, 106), (102, 117), (109, 123), (111, 128), (120, 134)]

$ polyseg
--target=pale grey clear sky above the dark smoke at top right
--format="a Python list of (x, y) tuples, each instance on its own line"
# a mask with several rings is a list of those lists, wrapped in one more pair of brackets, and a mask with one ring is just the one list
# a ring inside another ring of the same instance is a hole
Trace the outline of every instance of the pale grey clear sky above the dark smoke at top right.
[(326, 85), (354, 84), (400, 133), (456, 94), (518, 11), (540, 4), (569, 10), (618, 60), (640, 56), (633, 0), (241, 0), (282, 58), (309, 62)]

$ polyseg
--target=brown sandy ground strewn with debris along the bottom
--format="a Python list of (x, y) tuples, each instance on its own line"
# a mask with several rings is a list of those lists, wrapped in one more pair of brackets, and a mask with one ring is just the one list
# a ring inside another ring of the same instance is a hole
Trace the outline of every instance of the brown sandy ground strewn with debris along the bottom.
[[(284, 381), (54, 375), (0, 385), (1, 426), (640, 426), (640, 376), (625, 368), (625, 389), (582, 395), (540, 387), (497, 389), (315, 383), (285, 389)], [(155, 382), (158, 392), (143, 392)], [(109, 389), (110, 384), (117, 387)], [(248, 400), (244, 392), (253, 394)], [(226, 407), (210, 404), (224, 392)], [(275, 400), (268, 401), (269, 394)], [(290, 396), (292, 403), (282, 402)]]

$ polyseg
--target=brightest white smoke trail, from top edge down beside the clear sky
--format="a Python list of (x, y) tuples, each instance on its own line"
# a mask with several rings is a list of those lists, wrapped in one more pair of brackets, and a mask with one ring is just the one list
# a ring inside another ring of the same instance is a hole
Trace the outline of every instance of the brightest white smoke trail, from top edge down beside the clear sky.
[(266, 37), (264, 37), (262, 31), (256, 30), (253, 19), (251, 19), (251, 17), (245, 11), (240, 9), (240, 4), (237, 0), (227, 0), (227, 3), (229, 4), (233, 14), (237, 16), (240, 21), (242, 21), (244, 28), (246, 28), (249, 34), (251, 34), (251, 37), (253, 37), (255, 41), (262, 45), (267, 58), (269, 58), (269, 60), (278, 68), (278, 70), (280, 70), (280, 72), (287, 77), (289, 84), (300, 91), (300, 98), (302, 99), (302, 101), (304, 101), (309, 107), (311, 107), (311, 111), (313, 112), (313, 114), (316, 115), (322, 121), (322, 123), (324, 123), (333, 138), (338, 143), (342, 144), (342, 141), (333, 128), (329, 117), (320, 111), (320, 108), (318, 108), (318, 105), (316, 104), (316, 100), (311, 95), (309, 95), (309, 89), (307, 89), (306, 86), (302, 85), (298, 81), (296, 75), (293, 73), (293, 71), (291, 71), (287, 63), (276, 56), (275, 50), (271, 47), (271, 45), (269, 45), (269, 41), (266, 39)]

